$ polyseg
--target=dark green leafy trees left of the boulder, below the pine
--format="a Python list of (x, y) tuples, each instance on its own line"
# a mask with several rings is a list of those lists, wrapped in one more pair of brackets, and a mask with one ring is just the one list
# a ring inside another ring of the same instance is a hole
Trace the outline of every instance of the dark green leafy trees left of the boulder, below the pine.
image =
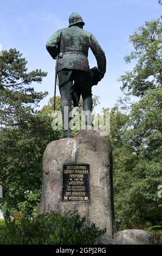
[(21, 128), (0, 131), (2, 211), (9, 217), (15, 210), (35, 215), (41, 196), (42, 157), (49, 142), (61, 132), (53, 131), (48, 115), (33, 115)]

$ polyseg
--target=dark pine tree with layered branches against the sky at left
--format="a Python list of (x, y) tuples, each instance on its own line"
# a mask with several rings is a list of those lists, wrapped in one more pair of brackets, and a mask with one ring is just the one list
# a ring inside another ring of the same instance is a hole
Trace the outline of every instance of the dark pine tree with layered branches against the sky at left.
[(3, 51), (0, 57), (0, 124), (18, 126), (27, 123), (35, 107), (47, 95), (37, 93), (31, 83), (41, 83), (46, 72), (27, 72), (27, 60), (16, 49)]

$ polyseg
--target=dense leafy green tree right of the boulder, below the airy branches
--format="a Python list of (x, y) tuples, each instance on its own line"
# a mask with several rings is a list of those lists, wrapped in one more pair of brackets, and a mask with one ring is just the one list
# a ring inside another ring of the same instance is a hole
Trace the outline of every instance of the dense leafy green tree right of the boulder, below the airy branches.
[[(125, 123), (117, 123), (118, 137), (112, 139), (116, 216), (122, 216), (127, 225), (161, 222), (158, 185), (162, 183), (162, 116), (156, 96), (149, 93), (135, 104)], [(117, 113), (114, 118), (118, 118)]]

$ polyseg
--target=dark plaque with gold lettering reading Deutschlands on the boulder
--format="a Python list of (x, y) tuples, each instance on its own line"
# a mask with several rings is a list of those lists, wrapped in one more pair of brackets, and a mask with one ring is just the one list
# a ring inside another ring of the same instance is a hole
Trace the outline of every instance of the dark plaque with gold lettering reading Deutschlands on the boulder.
[(63, 164), (63, 202), (89, 202), (89, 164)]

